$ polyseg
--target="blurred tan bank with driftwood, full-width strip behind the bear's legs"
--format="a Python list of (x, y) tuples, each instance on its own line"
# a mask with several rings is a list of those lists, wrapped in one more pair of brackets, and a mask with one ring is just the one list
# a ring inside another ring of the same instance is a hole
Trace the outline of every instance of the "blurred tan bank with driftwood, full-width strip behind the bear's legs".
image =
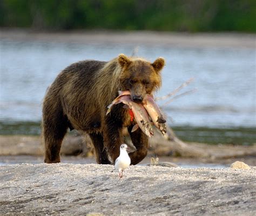
[[(131, 144), (130, 138), (126, 137), (126, 143)], [(149, 141), (149, 156), (182, 156), (203, 158), (207, 161), (218, 159), (256, 157), (256, 145), (207, 145), (203, 143), (184, 143), (175, 136), (172, 130), (168, 130), (163, 137), (159, 132), (155, 132)], [(62, 155), (89, 156), (89, 143), (84, 141), (82, 136), (67, 136), (62, 145)], [(90, 145), (89, 145), (90, 146)], [(132, 148), (131, 148), (132, 149)], [(135, 150), (135, 148), (134, 148)], [(42, 156), (43, 146), (39, 136), (0, 136), (0, 156)]]

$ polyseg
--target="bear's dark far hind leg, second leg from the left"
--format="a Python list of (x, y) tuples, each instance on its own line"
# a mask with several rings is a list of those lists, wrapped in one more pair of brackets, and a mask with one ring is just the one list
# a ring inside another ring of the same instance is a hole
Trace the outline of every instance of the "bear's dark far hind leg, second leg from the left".
[(89, 134), (93, 146), (95, 147), (97, 164), (111, 164), (107, 158), (106, 149), (104, 149), (103, 136), (100, 133)]

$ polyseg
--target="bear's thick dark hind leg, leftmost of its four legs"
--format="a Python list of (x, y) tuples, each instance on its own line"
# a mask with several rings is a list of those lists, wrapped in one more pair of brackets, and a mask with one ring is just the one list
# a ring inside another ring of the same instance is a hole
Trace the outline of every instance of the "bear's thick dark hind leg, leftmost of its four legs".
[(43, 136), (45, 146), (45, 163), (60, 162), (60, 147), (68, 129), (68, 121), (62, 116), (43, 116)]

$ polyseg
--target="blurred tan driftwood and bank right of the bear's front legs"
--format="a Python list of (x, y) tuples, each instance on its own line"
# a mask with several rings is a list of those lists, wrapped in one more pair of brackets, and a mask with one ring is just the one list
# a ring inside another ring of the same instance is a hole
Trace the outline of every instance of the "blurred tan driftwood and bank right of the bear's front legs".
[(159, 156), (180, 156), (191, 158), (205, 158), (207, 161), (218, 159), (256, 157), (256, 145), (209, 145), (203, 143), (185, 143), (181, 141), (170, 127), (163, 137), (158, 131), (150, 140), (149, 154)]

